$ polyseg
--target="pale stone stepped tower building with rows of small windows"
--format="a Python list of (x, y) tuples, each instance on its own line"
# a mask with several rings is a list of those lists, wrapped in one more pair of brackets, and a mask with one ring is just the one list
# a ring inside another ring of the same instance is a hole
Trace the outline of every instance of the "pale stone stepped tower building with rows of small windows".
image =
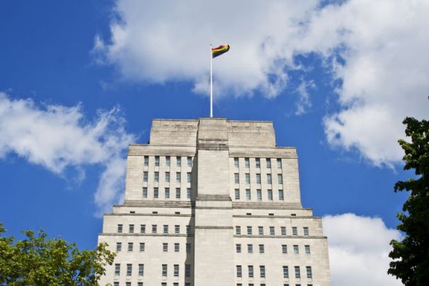
[(296, 150), (277, 147), (271, 122), (153, 120), (98, 241), (118, 253), (100, 285), (331, 285)]

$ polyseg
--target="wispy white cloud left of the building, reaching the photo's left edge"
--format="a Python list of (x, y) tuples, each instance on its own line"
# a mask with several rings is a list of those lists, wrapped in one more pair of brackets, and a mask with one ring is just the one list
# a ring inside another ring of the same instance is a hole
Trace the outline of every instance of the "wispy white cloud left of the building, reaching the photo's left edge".
[(31, 99), (15, 100), (0, 92), (0, 159), (15, 153), (57, 175), (75, 168), (84, 178), (84, 166), (104, 168), (95, 192), (100, 213), (120, 199), (125, 155), (135, 137), (125, 131), (120, 110), (98, 111), (92, 122), (80, 105), (37, 106)]

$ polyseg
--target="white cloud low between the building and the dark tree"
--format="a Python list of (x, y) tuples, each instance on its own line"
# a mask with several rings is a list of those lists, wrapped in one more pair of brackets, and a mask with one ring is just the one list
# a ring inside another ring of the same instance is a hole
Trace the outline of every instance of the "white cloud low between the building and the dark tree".
[(401, 234), (387, 229), (378, 217), (353, 213), (323, 217), (323, 231), (329, 242), (329, 263), (333, 286), (394, 286), (400, 280), (387, 275), (390, 240)]

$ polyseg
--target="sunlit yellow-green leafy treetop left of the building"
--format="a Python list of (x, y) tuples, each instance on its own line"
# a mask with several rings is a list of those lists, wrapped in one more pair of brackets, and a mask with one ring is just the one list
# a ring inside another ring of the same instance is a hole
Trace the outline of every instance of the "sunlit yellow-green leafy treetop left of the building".
[(47, 238), (44, 231), (24, 231), (26, 239), (16, 243), (12, 236), (3, 237), (5, 232), (0, 223), (0, 285), (98, 285), (116, 256), (105, 243), (80, 251), (74, 243)]

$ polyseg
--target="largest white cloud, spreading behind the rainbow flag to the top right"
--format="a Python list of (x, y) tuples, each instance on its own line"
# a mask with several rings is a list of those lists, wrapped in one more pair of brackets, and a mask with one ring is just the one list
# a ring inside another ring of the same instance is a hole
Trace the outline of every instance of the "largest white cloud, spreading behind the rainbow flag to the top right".
[[(291, 71), (311, 69), (297, 55), (320, 57), (338, 103), (323, 120), (327, 141), (392, 166), (403, 155), (403, 118), (428, 115), (428, 13), (423, 0), (117, 0), (111, 37), (95, 37), (93, 53), (124, 80), (186, 81), (208, 93), (208, 45), (229, 42), (213, 61), (215, 97), (268, 98), (285, 90)], [(302, 114), (311, 99), (295, 85)]]

